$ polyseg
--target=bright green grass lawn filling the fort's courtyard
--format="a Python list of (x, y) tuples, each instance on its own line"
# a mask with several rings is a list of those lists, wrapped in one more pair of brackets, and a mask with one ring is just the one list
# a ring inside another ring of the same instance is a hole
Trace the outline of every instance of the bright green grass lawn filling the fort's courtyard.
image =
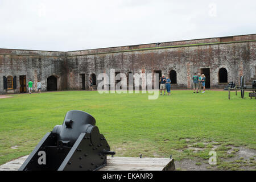
[[(14, 94), (0, 99), (0, 164), (30, 154), (69, 110), (92, 114), (117, 156), (207, 160), (217, 143), (218, 158), (229, 158), (229, 146), (256, 150), (256, 101), (239, 94), (232, 92), (231, 100), (228, 92), (212, 90), (173, 90), (157, 100), (96, 91)], [(193, 152), (189, 145), (202, 150)]]

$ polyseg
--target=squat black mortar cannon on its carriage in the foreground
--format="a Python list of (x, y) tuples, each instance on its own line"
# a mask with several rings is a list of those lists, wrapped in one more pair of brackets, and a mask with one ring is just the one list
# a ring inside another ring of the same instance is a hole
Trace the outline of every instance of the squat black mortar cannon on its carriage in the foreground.
[(71, 110), (63, 125), (57, 125), (19, 168), (19, 171), (93, 171), (106, 166), (106, 155), (114, 155), (92, 115)]

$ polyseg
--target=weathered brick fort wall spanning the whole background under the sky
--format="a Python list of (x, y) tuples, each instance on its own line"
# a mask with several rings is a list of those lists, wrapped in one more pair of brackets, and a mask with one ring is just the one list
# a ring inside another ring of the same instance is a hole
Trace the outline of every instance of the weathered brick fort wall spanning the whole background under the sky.
[[(228, 81), (239, 84), (239, 77), (256, 65), (256, 42), (248, 41), (256, 40), (256, 34), (232, 39), (234, 42), (220, 43), (231, 40), (230, 37), (209, 38), (161, 43), (159, 48), (155, 48), (155, 44), (143, 44), (72, 52), (0, 49), (0, 93), (6, 93), (3, 76), (17, 77), (15, 92), (19, 92), (20, 75), (26, 75), (27, 82), (30, 78), (34, 82), (42, 81), (42, 90), (47, 90), (47, 78), (51, 75), (57, 77), (58, 90), (76, 90), (81, 89), (80, 74), (85, 74), (89, 89), (92, 73), (110, 75), (110, 69), (139, 74), (160, 70), (167, 76), (173, 69), (177, 73), (178, 88), (191, 88), (193, 73), (209, 68), (211, 88), (223, 88), (224, 85), (218, 83), (220, 68), (228, 71)], [(163, 46), (175, 47), (161, 48)]]

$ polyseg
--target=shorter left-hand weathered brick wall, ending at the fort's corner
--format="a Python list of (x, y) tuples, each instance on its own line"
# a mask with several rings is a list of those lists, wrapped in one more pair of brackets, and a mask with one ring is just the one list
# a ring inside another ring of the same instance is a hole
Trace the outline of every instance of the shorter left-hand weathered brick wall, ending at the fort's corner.
[[(65, 80), (65, 57), (45, 57), (45, 56), (15, 56), (0, 54), (0, 93), (6, 93), (3, 90), (3, 76), (16, 76), (17, 88), (19, 92), (19, 76), (26, 75), (27, 82), (31, 79), (33, 82), (40, 80), (42, 90), (47, 90), (47, 78), (51, 75), (59, 77), (58, 89), (66, 89)], [(34, 84), (35, 86), (35, 84)]]

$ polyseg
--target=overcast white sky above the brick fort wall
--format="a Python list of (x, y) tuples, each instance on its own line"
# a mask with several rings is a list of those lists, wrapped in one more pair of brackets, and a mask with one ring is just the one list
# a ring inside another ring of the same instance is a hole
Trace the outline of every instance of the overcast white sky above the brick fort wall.
[(255, 0), (0, 0), (0, 48), (74, 51), (255, 33)]

